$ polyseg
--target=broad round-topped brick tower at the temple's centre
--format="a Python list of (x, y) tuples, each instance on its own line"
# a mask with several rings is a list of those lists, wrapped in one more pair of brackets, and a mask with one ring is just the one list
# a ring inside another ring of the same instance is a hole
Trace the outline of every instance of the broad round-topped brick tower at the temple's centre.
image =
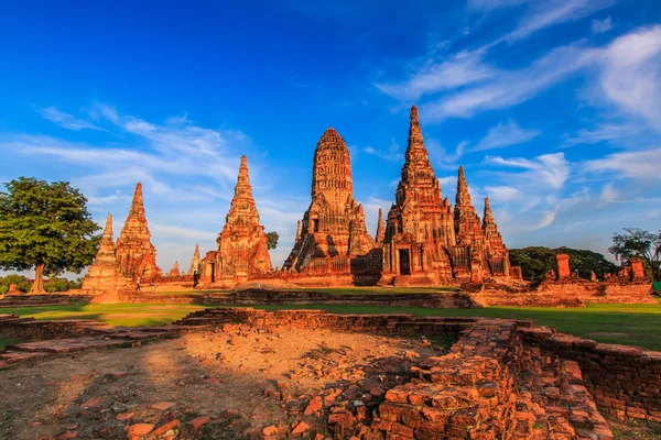
[(285, 270), (302, 271), (314, 257), (364, 255), (376, 248), (362, 205), (354, 199), (349, 150), (334, 129), (326, 130), (314, 152), (312, 202), (297, 235)]

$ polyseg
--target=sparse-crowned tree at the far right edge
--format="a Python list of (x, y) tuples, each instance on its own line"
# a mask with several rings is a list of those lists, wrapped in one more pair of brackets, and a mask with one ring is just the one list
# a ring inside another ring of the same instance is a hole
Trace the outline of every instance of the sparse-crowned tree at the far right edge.
[(652, 233), (638, 228), (625, 228), (625, 231), (613, 235), (608, 252), (620, 262), (641, 258), (650, 277), (661, 282), (661, 231)]

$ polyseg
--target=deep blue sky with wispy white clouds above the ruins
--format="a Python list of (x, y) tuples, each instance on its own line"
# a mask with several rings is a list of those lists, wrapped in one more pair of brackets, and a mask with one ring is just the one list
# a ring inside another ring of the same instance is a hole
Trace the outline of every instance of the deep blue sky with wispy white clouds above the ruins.
[(159, 264), (215, 249), (248, 156), (281, 265), (326, 128), (373, 233), (409, 107), (454, 202), (464, 165), (510, 248), (605, 252), (661, 226), (653, 0), (3, 2), (0, 180), (68, 180), (116, 237), (142, 182)]

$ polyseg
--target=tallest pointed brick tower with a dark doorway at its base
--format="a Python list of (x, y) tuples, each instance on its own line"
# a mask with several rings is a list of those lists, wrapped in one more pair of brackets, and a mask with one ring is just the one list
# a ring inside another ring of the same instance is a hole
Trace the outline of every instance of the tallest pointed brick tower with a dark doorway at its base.
[(438, 284), (452, 278), (444, 250), (455, 243), (452, 207), (447, 198), (442, 199), (415, 106), (410, 118), (405, 162), (395, 202), (388, 213), (381, 284), (397, 284), (398, 276), (407, 276), (415, 284)]

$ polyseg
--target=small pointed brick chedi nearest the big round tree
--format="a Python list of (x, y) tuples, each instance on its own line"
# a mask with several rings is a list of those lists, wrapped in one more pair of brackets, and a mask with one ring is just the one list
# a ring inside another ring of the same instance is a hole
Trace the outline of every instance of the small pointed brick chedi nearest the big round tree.
[(132, 287), (131, 285), (131, 279), (123, 276), (119, 270), (112, 240), (112, 215), (108, 215), (99, 250), (91, 266), (87, 270), (82, 288), (91, 295), (96, 295), (104, 292), (122, 290)]

